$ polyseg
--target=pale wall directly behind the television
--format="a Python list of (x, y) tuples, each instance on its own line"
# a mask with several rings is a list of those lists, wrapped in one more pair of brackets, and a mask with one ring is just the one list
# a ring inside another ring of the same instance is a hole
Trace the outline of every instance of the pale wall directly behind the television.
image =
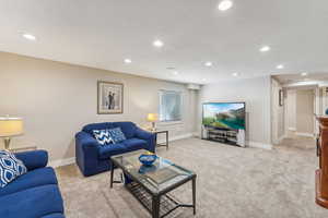
[[(211, 101), (246, 101), (246, 140), (250, 141), (254, 146), (268, 147), (271, 144), (270, 86), (270, 76), (204, 85), (200, 93), (199, 107), (202, 102)], [(198, 132), (200, 132), (201, 108), (198, 113)]]

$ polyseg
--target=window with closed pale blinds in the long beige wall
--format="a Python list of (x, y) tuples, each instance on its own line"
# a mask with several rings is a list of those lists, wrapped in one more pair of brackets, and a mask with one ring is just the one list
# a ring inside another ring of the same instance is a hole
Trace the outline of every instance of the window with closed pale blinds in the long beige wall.
[(181, 93), (160, 90), (160, 121), (181, 120)]

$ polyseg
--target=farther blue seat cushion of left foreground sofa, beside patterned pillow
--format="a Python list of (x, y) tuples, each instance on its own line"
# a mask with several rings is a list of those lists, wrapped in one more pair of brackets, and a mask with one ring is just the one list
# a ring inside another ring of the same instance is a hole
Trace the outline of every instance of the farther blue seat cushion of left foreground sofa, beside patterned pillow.
[(55, 171), (50, 167), (28, 171), (27, 173), (19, 177), (5, 187), (0, 189), (0, 196), (45, 184), (57, 184)]

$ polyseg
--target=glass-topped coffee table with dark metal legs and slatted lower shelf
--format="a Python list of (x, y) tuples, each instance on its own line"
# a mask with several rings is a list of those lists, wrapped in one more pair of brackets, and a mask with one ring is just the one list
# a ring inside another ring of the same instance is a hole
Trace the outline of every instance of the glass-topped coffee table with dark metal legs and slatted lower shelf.
[[(194, 208), (196, 214), (196, 173), (167, 159), (157, 157), (153, 166), (144, 167), (139, 156), (148, 150), (138, 150), (112, 156), (110, 189), (113, 187), (114, 170), (120, 168), (125, 174), (125, 186), (145, 207), (153, 218), (162, 218), (179, 207)], [(192, 205), (181, 204), (174, 198), (171, 191), (191, 181)]]

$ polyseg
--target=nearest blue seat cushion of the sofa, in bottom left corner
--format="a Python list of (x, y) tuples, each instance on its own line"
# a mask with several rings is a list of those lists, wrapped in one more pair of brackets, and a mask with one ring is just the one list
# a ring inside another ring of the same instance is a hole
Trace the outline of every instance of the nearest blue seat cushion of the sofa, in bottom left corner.
[(62, 198), (56, 184), (32, 187), (0, 197), (0, 217), (37, 218), (63, 214)]

